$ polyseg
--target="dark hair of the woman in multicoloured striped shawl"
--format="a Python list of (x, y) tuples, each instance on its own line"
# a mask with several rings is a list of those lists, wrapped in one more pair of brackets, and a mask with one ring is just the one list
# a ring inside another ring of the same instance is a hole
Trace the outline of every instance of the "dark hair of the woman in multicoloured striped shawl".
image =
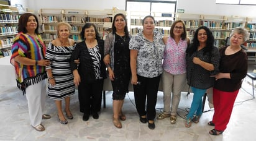
[(27, 29), (25, 27), (27, 27), (27, 22), (31, 15), (35, 17), (35, 21), (37, 22), (37, 28), (35, 28), (35, 33), (39, 35), (39, 20), (37, 19), (36, 15), (31, 13), (25, 13), (21, 15), (21, 17), (19, 18), (18, 32), (27, 33)]

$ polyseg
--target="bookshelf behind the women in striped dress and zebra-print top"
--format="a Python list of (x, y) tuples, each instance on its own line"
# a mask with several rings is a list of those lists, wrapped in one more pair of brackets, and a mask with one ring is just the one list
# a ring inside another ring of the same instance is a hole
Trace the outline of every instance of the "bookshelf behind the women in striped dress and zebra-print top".
[(80, 42), (80, 32), (83, 25), (92, 23), (96, 25), (99, 34), (103, 37), (104, 31), (111, 28), (112, 17), (125, 11), (119, 9), (104, 9), (103, 11), (85, 10), (85, 9), (40, 9), (39, 10), (39, 24), (40, 33), (45, 42), (48, 44), (50, 40), (57, 38), (56, 25), (58, 22), (67, 22), (71, 25), (71, 35), (75, 42)]

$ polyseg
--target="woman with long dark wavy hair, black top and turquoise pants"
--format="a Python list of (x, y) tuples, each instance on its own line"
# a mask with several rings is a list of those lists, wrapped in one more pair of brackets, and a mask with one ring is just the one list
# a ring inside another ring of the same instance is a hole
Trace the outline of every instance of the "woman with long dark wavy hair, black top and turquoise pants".
[(191, 126), (191, 121), (199, 122), (202, 114), (202, 97), (208, 88), (213, 87), (214, 77), (211, 75), (219, 72), (219, 51), (213, 44), (213, 33), (203, 26), (194, 32), (192, 44), (186, 50), (188, 85), (194, 93), (190, 112), (186, 116), (186, 127)]

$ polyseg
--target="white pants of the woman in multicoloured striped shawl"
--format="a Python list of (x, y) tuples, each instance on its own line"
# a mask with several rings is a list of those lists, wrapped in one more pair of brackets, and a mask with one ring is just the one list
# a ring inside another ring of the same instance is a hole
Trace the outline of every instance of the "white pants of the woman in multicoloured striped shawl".
[(30, 124), (35, 127), (42, 122), (42, 113), (45, 106), (46, 85), (45, 80), (30, 85), (25, 90), (25, 96), (29, 106)]

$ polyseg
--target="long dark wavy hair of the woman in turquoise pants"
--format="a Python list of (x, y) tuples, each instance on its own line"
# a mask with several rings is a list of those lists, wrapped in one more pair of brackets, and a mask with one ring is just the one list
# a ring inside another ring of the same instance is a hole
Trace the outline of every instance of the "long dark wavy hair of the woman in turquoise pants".
[(186, 50), (186, 53), (188, 53), (189, 55), (193, 54), (198, 49), (198, 46), (199, 46), (198, 32), (201, 29), (205, 30), (206, 33), (207, 33), (207, 40), (206, 40), (206, 46), (204, 47), (204, 54), (206, 54), (206, 53), (210, 53), (211, 54), (211, 51), (214, 48), (214, 36), (213, 36), (213, 33), (211, 32), (211, 30), (209, 30), (208, 27), (202, 26), (202, 27), (199, 27), (196, 30), (196, 32), (194, 32), (194, 38), (192, 40), (192, 44)]

